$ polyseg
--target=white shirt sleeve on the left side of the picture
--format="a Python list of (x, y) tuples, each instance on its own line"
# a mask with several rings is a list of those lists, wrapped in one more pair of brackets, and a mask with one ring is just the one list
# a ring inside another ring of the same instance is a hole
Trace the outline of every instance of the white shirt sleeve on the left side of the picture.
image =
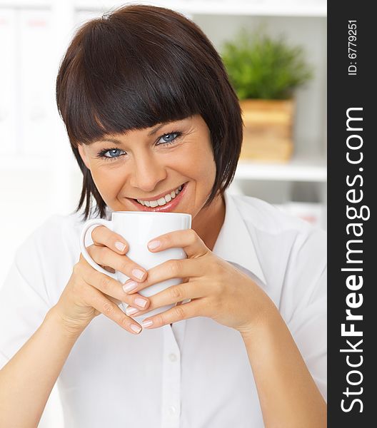
[(39, 248), (31, 236), (16, 251), (0, 287), (0, 368), (34, 334), (50, 306)]

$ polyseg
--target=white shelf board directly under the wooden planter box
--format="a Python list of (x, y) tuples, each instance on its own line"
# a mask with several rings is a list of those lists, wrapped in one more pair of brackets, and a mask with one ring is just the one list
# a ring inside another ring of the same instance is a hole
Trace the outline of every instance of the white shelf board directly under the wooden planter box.
[(289, 163), (261, 163), (241, 160), (235, 179), (326, 183), (326, 161), (293, 158)]

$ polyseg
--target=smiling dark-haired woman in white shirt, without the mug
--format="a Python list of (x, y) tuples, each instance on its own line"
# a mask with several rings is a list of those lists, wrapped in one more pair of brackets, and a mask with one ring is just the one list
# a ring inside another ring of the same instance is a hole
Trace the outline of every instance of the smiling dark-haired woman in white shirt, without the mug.
[[(226, 193), (241, 112), (206, 36), (174, 11), (126, 6), (79, 29), (56, 95), (84, 218), (47, 220), (2, 289), (1, 426), (36, 426), (56, 379), (70, 428), (326, 426), (325, 235)], [(113, 210), (190, 213), (192, 230), (150, 246), (188, 258), (147, 272), (126, 236), (99, 226), (91, 257), (131, 279), (97, 272), (79, 233)], [(139, 294), (170, 277), (184, 282)]]

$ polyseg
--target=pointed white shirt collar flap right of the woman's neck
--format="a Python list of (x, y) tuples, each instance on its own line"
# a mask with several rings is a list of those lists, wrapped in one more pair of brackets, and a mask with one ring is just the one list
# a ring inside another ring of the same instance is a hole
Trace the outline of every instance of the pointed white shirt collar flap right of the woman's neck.
[(241, 213), (232, 195), (229, 195), (227, 191), (224, 192), (224, 199), (225, 218), (213, 247), (213, 253), (228, 262), (246, 268), (266, 284), (251, 234), (246, 228)]

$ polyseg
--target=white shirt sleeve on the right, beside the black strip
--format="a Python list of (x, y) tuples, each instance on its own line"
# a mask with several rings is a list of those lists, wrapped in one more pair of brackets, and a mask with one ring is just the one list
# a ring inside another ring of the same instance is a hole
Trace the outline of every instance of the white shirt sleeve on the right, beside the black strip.
[(281, 299), (286, 320), (308, 370), (327, 399), (326, 233), (315, 228), (293, 245)]

